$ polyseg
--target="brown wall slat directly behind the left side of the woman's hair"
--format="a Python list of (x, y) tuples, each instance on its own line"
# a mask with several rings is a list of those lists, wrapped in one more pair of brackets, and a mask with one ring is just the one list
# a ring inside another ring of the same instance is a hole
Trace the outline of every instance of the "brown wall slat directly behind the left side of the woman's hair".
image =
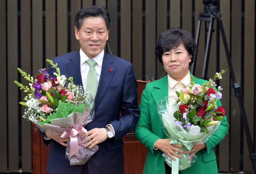
[[(169, 21), (168, 21), (169, 22)], [(157, 39), (159, 34), (161, 34), (164, 30), (167, 30), (167, 0), (157, 1)], [(164, 67), (157, 59), (156, 61), (156, 79), (160, 79), (161, 77), (167, 75)], [(165, 75), (163, 75), (165, 74)], [(163, 75), (163, 76), (162, 76)]]

